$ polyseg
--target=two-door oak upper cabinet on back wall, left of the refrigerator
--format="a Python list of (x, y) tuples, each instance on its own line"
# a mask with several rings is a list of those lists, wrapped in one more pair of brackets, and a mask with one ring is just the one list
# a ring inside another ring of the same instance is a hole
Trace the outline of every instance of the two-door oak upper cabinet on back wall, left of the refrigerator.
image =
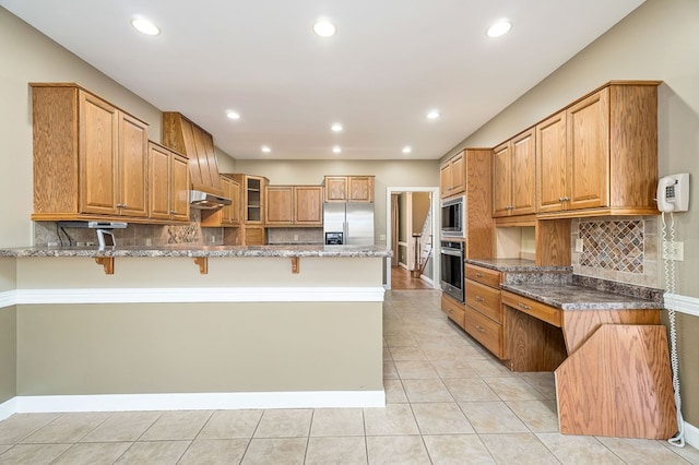
[(266, 226), (322, 226), (321, 186), (268, 186)]

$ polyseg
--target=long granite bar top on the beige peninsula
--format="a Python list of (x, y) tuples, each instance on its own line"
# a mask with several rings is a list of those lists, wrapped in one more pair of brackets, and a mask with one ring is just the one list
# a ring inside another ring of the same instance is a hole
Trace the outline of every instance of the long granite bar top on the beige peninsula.
[(325, 257), (386, 258), (392, 255), (386, 246), (197, 246), (161, 247), (26, 247), (0, 249), (0, 257)]

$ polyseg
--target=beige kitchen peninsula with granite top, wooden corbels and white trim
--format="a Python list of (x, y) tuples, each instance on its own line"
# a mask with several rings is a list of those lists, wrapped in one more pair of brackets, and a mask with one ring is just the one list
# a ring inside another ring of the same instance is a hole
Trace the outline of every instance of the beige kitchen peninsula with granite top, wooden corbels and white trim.
[[(0, 250), (16, 412), (382, 406), (366, 246)], [(95, 263), (97, 262), (97, 264)]]

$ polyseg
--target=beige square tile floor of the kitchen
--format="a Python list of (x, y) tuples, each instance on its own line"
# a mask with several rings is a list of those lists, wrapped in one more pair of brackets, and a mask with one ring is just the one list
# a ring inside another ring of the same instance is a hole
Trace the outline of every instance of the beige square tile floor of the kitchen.
[(511, 373), (439, 293), (383, 313), (386, 408), (21, 414), (0, 464), (699, 464), (665, 441), (559, 434), (553, 373)]

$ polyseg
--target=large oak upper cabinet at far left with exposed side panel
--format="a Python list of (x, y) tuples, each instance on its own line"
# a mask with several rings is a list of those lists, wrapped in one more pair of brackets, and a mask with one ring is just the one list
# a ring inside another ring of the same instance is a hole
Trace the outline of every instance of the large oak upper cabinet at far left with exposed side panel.
[(32, 219), (147, 220), (147, 124), (76, 84), (31, 85)]

